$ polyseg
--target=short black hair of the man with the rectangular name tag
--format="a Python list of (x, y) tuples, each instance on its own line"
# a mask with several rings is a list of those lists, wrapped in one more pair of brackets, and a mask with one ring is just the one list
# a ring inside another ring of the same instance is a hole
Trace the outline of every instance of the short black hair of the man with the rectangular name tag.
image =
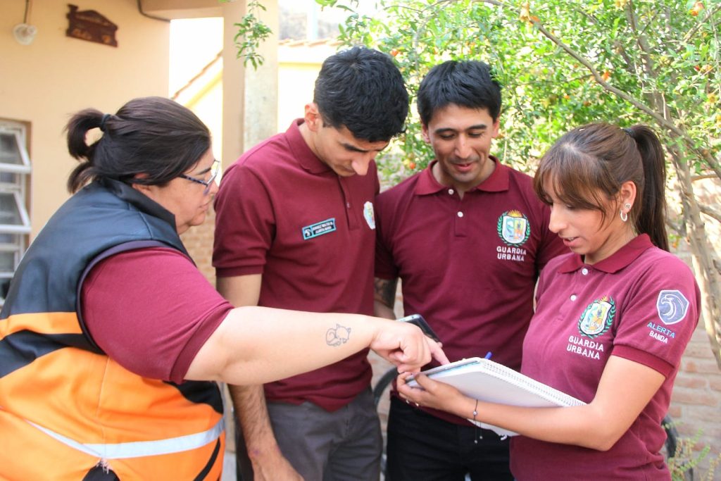
[(390, 56), (353, 47), (323, 62), (313, 92), (323, 123), (355, 138), (389, 141), (404, 131), (408, 92)]

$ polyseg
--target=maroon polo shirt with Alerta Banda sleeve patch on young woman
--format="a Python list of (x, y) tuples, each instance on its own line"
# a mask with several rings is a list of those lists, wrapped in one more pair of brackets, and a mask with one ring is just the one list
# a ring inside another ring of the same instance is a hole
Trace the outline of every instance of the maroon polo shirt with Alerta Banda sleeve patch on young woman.
[(643, 234), (593, 265), (577, 254), (552, 260), (541, 274), (537, 298), (523, 343), (523, 374), (585, 402), (595, 397), (611, 355), (649, 366), (665, 381), (609, 451), (514, 437), (513, 475), (670, 479), (659, 454), (665, 441), (660, 423), (701, 305), (689, 267)]

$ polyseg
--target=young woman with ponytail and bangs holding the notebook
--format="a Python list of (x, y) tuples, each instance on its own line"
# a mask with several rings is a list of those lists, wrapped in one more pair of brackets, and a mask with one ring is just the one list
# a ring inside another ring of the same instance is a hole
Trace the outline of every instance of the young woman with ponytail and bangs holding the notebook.
[(663, 148), (650, 128), (593, 123), (566, 133), (534, 177), (549, 229), (571, 252), (539, 279), (521, 372), (588, 404), (529, 408), (399, 378), (407, 400), (474, 417), (511, 441), (518, 480), (671, 479), (661, 420), (699, 319), (691, 270), (668, 253)]

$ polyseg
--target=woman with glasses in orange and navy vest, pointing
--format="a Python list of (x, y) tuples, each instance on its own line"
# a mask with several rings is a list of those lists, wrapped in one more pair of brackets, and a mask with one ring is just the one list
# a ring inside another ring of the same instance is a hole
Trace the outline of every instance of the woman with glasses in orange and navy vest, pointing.
[(190, 110), (140, 98), (115, 115), (82, 110), (67, 131), (74, 195), (33, 240), (0, 315), (0, 478), (217, 480), (214, 381), (260, 384), (368, 347), (400, 371), (447, 362), (407, 323), (233, 309), (179, 237), (218, 190), (210, 133)]

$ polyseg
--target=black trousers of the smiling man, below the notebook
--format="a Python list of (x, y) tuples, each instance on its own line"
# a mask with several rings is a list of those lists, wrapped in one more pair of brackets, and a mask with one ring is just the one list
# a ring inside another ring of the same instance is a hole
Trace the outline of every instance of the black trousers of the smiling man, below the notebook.
[(509, 440), (493, 431), (448, 423), (392, 397), (387, 436), (388, 481), (513, 481)]

